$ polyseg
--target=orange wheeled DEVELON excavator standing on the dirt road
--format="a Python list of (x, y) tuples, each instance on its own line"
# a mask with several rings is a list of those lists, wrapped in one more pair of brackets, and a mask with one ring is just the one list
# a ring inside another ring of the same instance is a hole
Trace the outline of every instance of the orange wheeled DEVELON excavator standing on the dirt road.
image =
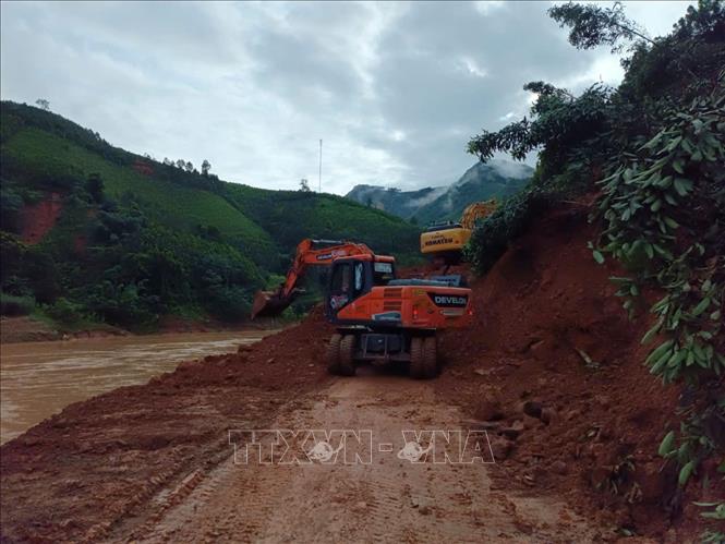
[[(437, 375), (436, 333), (471, 324), (471, 290), (459, 276), (397, 279), (395, 258), (365, 244), (303, 240), (286, 282), (255, 298), (253, 315), (274, 315), (289, 305), (306, 266), (331, 266), (325, 316), (337, 328), (327, 349), (329, 372), (352, 376), (358, 363), (403, 363), (414, 378)], [(330, 246), (329, 244), (333, 243)]]

